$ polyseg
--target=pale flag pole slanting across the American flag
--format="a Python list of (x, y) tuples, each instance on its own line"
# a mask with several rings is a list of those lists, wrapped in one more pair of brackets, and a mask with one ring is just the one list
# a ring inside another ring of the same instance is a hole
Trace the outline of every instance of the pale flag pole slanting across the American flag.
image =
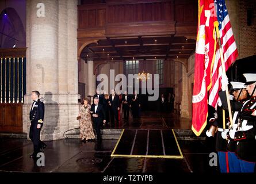
[[(221, 46), (221, 43), (220, 43), (220, 33), (219, 33), (219, 28), (217, 26), (215, 26), (215, 31), (216, 31), (216, 34), (217, 34), (217, 40), (218, 40), (219, 48), (220, 48), (219, 52), (220, 52), (220, 60), (221, 60), (222, 73), (223, 73), (223, 76), (227, 77), (226, 67), (225, 67), (225, 62), (224, 62), (224, 57), (223, 57), (223, 51), (222, 51), (222, 46)], [(231, 105), (230, 105), (230, 98), (229, 98), (229, 94), (228, 94), (228, 85), (227, 84), (224, 86), (224, 89), (226, 91), (227, 104), (228, 104), (228, 114), (230, 116), (230, 125), (231, 125), (231, 127), (233, 127)], [(226, 128), (226, 122), (224, 120), (223, 120), (223, 128)]]

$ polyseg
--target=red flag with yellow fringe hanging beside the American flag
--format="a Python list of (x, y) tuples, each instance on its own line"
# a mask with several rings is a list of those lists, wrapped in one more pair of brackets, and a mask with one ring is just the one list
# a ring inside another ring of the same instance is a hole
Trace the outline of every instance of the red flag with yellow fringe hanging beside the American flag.
[(208, 90), (211, 89), (218, 26), (213, 0), (198, 0), (198, 28), (194, 63), (192, 131), (199, 136), (207, 124)]

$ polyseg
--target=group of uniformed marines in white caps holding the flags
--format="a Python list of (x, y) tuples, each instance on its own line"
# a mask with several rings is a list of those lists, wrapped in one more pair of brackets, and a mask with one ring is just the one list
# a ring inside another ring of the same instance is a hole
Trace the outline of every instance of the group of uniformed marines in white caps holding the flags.
[[(208, 106), (208, 137), (215, 136), (221, 173), (254, 173), (256, 163), (256, 74), (243, 74), (246, 83), (231, 82), (228, 115), (226, 91), (220, 91), (221, 106)], [(228, 80), (221, 80), (222, 86)], [(215, 131), (216, 130), (216, 131)]]

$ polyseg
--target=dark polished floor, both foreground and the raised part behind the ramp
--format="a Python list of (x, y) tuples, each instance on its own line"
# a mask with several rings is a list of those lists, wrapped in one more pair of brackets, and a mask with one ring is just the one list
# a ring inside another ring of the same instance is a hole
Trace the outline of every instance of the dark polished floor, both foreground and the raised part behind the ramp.
[[(36, 162), (29, 158), (33, 152), (30, 140), (1, 137), (0, 172), (219, 173), (217, 167), (209, 166), (209, 153), (214, 152), (214, 142), (193, 135), (188, 135), (193, 139), (182, 139), (183, 131), (188, 132), (190, 127), (191, 122), (187, 119), (158, 112), (144, 112), (138, 120), (130, 118), (125, 121), (122, 118), (118, 125), (112, 127), (125, 129), (116, 153), (120, 152), (120, 149), (124, 151), (127, 147), (128, 155), (129, 152), (133, 155), (143, 155), (147, 150), (148, 155), (179, 154), (175, 139), (171, 137), (171, 129), (175, 129), (184, 158), (117, 157), (111, 156), (117, 139), (104, 139), (101, 144), (82, 143), (79, 139), (62, 139), (45, 141), (48, 146), (44, 150), (44, 167), (38, 167)], [(106, 125), (104, 128), (110, 127)]]

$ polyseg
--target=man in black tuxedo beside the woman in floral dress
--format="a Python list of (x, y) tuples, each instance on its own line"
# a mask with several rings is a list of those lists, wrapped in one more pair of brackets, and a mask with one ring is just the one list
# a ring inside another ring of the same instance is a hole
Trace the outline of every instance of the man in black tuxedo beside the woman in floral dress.
[(98, 143), (101, 143), (101, 122), (105, 124), (106, 122), (106, 114), (103, 108), (103, 105), (99, 104), (99, 99), (98, 97), (95, 97), (93, 99), (93, 105), (91, 105), (91, 111), (90, 113), (93, 116), (93, 122), (94, 122), (94, 128), (97, 133), (97, 141)]

